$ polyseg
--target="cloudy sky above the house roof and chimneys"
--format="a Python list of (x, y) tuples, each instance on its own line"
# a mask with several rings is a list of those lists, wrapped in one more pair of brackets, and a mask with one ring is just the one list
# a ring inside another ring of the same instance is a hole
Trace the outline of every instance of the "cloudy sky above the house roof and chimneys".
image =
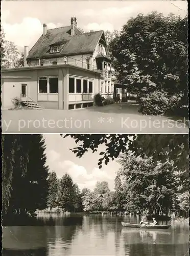
[(120, 30), (130, 17), (152, 11), (168, 15), (170, 12), (185, 16), (186, 1), (2, 1), (1, 25), (6, 39), (13, 41), (19, 51), (29, 49), (42, 34), (42, 24), (47, 29), (69, 26), (70, 18), (77, 17), (84, 31)]

